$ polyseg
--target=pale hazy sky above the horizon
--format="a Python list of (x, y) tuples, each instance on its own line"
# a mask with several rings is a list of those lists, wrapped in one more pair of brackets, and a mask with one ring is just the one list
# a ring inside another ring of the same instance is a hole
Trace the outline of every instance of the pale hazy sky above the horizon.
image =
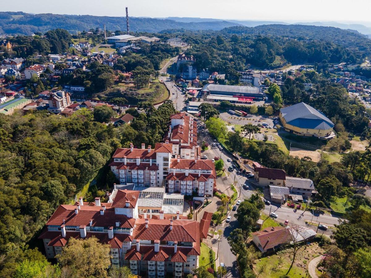
[(282, 21), (371, 21), (370, 0), (17, 0), (1, 11), (96, 16), (207, 17)]

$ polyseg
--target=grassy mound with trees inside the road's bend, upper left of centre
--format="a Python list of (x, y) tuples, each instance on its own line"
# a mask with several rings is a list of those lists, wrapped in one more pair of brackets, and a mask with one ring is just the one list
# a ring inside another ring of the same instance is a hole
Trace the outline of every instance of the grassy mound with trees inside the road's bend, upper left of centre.
[(151, 82), (149, 87), (137, 89), (134, 84), (119, 83), (114, 88), (102, 93), (108, 99), (113, 97), (125, 97), (128, 104), (137, 105), (138, 102), (150, 101), (158, 103), (168, 98), (169, 92), (164, 84), (160, 82)]

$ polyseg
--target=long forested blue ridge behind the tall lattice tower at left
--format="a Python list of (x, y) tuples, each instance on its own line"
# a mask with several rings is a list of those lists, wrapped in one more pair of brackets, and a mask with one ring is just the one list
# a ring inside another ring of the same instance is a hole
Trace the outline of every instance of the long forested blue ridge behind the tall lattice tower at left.
[[(239, 25), (228, 21), (178, 22), (169, 19), (152, 19), (129, 17), (130, 30), (133, 32), (156, 33), (164, 29), (186, 30), (221, 30)], [(30, 35), (36, 32), (45, 33), (51, 29), (62, 28), (69, 32), (103, 28), (108, 30), (126, 30), (125, 17), (89, 16), (68, 14), (28, 14), (23, 12), (0, 12), (0, 34)]]

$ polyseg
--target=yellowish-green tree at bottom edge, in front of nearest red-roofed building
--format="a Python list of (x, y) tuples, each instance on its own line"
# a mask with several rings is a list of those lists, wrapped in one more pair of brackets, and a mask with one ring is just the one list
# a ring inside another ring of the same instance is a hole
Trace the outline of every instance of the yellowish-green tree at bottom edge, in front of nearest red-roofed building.
[(99, 243), (95, 237), (71, 238), (56, 258), (62, 266), (78, 270), (81, 277), (106, 277), (106, 269), (111, 265), (109, 251), (109, 245)]

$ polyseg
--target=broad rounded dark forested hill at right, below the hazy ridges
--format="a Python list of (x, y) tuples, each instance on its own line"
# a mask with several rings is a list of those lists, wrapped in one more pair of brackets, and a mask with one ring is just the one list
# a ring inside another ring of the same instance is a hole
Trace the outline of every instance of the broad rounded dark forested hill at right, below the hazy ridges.
[(371, 54), (371, 40), (366, 35), (355, 30), (344, 30), (335, 27), (269, 24), (256, 27), (233, 26), (224, 28), (221, 32), (227, 34), (282, 36), (298, 40), (324, 40)]

